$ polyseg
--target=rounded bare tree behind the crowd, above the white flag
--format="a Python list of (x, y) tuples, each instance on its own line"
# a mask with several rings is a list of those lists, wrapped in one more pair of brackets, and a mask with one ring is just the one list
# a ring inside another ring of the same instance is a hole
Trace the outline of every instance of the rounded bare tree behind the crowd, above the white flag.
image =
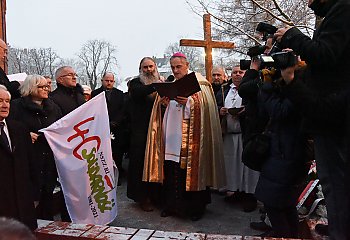
[[(116, 48), (104, 40), (90, 40), (80, 50), (78, 57), (84, 63), (85, 74), (92, 89), (98, 85), (98, 79), (106, 72), (115, 72)], [(113, 71), (114, 70), (114, 71)]]

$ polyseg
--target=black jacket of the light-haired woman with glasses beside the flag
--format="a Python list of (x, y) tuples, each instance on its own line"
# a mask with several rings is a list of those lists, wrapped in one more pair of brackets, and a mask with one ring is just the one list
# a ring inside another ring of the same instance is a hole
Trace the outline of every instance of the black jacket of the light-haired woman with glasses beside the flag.
[(10, 118), (21, 121), (28, 132), (39, 134), (37, 141), (32, 144), (33, 156), (36, 159), (39, 174), (39, 186), (52, 192), (57, 178), (53, 153), (45, 136), (39, 130), (48, 127), (61, 118), (60, 108), (51, 100), (43, 100), (43, 107), (34, 103), (29, 96), (11, 102)]

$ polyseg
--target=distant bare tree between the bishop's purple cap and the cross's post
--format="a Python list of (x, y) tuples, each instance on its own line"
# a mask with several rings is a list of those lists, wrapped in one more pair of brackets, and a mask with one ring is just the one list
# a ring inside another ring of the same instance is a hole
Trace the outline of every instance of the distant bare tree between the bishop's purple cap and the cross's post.
[(200, 72), (205, 75), (204, 67), (204, 51), (196, 47), (183, 47), (179, 45), (179, 41), (169, 44), (165, 49), (165, 55), (170, 56), (175, 52), (182, 52), (186, 55), (190, 63), (191, 70)]

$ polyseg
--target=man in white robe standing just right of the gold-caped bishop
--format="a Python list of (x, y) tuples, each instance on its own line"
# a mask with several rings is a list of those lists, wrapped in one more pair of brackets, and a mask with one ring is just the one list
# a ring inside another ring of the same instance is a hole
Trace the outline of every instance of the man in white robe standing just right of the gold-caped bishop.
[(225, 122), (223, 131), (224, 160), (226, 170), (225, 200), (228, 202), (241, 201), (243, 210), (250, 212), (256, 209), (254, 197), (259, 172), (249, 169), (242, 163), (242, 128), (240, 115), (244, 114), (242, 98), (238, 95), (238, 87), (245, 71), (239, 66), (232, 70), (232, 79), (222, 86), (216, 96), (222, 121)]

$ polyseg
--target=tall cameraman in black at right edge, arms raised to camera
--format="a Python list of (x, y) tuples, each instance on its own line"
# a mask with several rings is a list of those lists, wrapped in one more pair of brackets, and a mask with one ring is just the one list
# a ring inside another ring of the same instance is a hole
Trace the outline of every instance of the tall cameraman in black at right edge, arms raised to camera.
[(295, 27), (278, 29), (275, 37), (282, 48), (293, 49), (307, 63), (305, 84), (292, 81), (294, 71), (284, 74), (285, 92), (306, 116), (314, 137), (330, 238), (350, 239), (350, 1), (309, 0), (309, 7), (324, 17), (312, 39)]

